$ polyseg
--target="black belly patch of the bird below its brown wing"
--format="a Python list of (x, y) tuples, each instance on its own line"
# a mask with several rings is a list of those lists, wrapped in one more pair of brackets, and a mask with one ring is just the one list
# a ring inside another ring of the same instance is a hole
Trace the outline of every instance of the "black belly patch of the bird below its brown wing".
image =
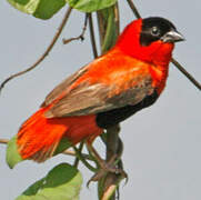
[(125, 106), (107, 112), (98, 113), (97, 124), (103, 129), (118, 124), (138, 112), (139, 110), (153, 104), (157, 101), (158, 97), (159, 96), (157, 91), (154, 91), (151, 96), (147, 96), (142, 101), (134, 106)]

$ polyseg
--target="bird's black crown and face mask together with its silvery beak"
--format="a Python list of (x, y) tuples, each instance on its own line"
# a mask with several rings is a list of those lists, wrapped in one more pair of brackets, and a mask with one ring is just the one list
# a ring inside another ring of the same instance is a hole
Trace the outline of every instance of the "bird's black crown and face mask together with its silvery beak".
[(184, 40), (172, 22), (167, 19), (152, 17), (142, 20), (142, 30), (140, 33), (141, 46), (149, 46), (154, 41), (178, 42)]

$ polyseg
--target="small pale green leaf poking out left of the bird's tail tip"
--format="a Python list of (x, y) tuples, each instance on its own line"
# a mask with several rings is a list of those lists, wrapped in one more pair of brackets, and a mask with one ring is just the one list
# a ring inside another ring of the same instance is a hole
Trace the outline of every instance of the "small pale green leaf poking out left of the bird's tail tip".
[(21, 162), (23, 159), (18, 152), (17, 149), (17, 142), (16, 142), (17, 137), (14, 136), (11, 140), (9, 140), (8, 146), (7, 146), (7, 163), (9, 167), (12, 169), (18, 162)]

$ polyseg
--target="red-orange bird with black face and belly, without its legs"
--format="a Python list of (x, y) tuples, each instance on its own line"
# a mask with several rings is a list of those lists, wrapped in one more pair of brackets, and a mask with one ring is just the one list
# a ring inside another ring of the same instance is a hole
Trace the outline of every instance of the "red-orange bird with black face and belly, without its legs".
[(182, 40), (163, 18), (132, 21), (110, 51), (56, 87), (21, 126), (20, 156), (41, 162), (61, 140), (91, 143), (103, 129), (154, 103), (165, 87), (174, 42)]

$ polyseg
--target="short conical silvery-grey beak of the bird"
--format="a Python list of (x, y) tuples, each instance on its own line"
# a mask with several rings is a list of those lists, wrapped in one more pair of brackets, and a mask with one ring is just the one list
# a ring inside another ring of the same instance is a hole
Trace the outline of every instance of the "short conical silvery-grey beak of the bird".
[(183, 41), (185, 40), (184, 37), (178, 32), (177, 30), (171, 30), (169, 32), (167, 32), (161, 40), (163, 42), (179, 42), (179, 41)]

